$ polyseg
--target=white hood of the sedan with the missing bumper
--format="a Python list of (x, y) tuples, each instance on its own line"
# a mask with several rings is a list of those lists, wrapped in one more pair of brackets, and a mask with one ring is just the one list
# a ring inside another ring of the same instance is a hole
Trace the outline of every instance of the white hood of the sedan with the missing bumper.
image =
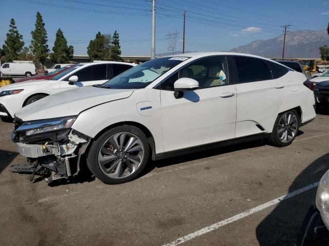
[(135, 89), (81, 87), (46, 96), (15, 113), (23, 121), (77, 115), (88, 108), (130, 97)]

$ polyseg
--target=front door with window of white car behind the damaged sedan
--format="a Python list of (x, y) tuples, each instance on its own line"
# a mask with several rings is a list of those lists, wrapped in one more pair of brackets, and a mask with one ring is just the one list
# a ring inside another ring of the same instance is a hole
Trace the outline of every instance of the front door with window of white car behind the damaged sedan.
[[(78, 76), (78, 81), (74, 85), (69, 85), (68, 79), (74, 75)], [(103, 84), (107, 80), (107, 64), (93, 64), (67, 76), (60, 82), (60, 86), (61, 91), (65, 91), (77, 87)]]

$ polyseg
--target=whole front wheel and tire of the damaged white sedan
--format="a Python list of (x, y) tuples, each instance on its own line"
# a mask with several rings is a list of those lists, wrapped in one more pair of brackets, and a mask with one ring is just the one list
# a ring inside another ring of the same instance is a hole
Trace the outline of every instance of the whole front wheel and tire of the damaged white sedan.
[(87, 166), (102, 182), (117, 185), (135, 179), (147, 165), (149, 154), (149, 142), (139, 128), (119, 126), (93, 142)]

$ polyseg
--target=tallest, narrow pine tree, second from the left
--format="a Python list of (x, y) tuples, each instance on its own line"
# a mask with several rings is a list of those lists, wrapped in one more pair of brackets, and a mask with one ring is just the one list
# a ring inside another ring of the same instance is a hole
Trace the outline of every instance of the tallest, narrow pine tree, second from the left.
[(47, 60), (49, 49), (48, 49), (48, 39), (47, 31), (45, 29), (45, 23), (43, 22), (42, 16), (39, 12), (36, 12), (36, 22), (35, 30), (31, 32), (31, 50), (35, 59), (40, 61), (42, 67), (44, 68), (44, 63)]

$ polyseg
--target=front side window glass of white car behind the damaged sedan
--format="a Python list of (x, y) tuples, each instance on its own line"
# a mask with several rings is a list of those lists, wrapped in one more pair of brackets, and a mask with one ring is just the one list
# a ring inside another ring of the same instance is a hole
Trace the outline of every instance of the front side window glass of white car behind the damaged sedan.
[[(103, 80), (106, 79), (106, 64), (88, 66), (72, 75), (77, 75), (79, 82)], [(68, 80), (69, 77), (65, 80)]]

